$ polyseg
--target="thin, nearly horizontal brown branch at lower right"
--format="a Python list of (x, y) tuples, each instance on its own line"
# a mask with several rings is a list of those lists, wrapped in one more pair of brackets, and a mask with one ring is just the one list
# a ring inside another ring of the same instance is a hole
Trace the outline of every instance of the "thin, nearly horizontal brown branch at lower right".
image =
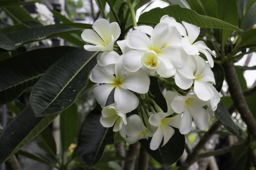
[(209, 156), (217, 156), (217, 155), (222, 155), (224, 153), (229, 153), (231, 151), (233, 151), (234, 149), (238, 149), (244, 146), (244, 143), (237, 143), (228, 147), (224, 147), (221, 149), (217, 149), (217, 150), (211, 150), (211, 151), (206, 151), (203, 152), (201, 154), (199, 154), (197, 156), (197, 159), (201, 159), (201, 158), (205, 158), (205, 157), (209, 157)]

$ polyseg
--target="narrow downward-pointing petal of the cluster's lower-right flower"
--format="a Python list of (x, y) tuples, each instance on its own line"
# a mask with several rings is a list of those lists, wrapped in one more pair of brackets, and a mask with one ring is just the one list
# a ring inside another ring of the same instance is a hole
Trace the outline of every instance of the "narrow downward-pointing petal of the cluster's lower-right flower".
[(187, 134), (192, 128), (192, 117), (190, 111), (186, 108), (181, 119), (179, 130), (181, 134)]

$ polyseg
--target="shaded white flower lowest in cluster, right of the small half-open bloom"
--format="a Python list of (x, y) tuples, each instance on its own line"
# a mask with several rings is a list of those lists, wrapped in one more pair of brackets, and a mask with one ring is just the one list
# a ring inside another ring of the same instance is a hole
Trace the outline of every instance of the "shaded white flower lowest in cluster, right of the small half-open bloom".
[(120, 130), (120, 135), (128, 144), (134, 144), (140, 139), (152, 137), (153, 132), (145, 127), (140, 116), (134, 114), (127, 118), (127, 125), (124, 125)]

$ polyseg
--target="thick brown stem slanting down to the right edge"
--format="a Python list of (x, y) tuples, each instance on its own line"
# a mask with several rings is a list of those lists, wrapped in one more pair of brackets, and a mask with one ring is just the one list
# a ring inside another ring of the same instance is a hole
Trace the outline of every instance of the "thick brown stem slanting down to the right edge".
[(253, 114), (251, 113), (245, 101), (243, 91), (241, 89), (241, 85), (239, 83), (233, 61), (232, 60), (226, 61), (223, 64), (223, 68), (225, 71), (225, 77), (227, 79), (230, 96), (233, 99), (234, 105), (236, 106), (236, 109), (241, 114), (241, 118), (246, 123), (249, 132), (251, 133), (253, 138), (256, 140), (256, 122), (253, 117)]

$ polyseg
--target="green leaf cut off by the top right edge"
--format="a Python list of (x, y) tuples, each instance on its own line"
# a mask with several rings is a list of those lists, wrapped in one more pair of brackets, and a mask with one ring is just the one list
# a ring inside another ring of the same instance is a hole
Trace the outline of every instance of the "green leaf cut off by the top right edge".
[(247, 31), (253, 27), (253, 25), (256, 23), (256, 3), (253, 4), (253, 6), (250, 7), (249, 11), (247, 12), (247, 15), (244, 19), (243, 23), (243, 30)]

